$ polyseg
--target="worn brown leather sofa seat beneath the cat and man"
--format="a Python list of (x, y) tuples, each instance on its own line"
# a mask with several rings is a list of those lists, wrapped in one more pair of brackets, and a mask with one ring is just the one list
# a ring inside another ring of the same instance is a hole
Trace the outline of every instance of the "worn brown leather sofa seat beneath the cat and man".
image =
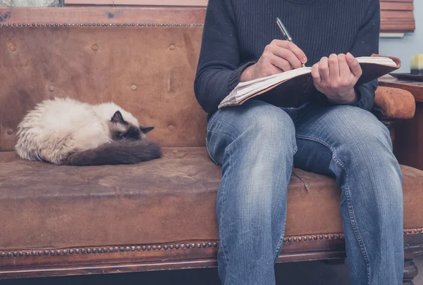
[[(423, 172), (402, 167), (405, 228), (423, 226)], [(296, 170), (286, 236), (342, 232), (341, 191)], [(0, 250), (218, 239), (221, 167), (204, 147), (165, 148), (138, 165), (56, 166), (0, 152)]]

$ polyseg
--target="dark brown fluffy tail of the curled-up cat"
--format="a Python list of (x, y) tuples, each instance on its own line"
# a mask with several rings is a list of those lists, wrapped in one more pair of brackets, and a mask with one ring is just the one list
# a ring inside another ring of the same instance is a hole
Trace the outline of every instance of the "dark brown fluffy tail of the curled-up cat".
[(63, 165), (133, 164), (161, 158), (161, 147), (154, 141), (121, 139), (87, 151), (70, 153)]

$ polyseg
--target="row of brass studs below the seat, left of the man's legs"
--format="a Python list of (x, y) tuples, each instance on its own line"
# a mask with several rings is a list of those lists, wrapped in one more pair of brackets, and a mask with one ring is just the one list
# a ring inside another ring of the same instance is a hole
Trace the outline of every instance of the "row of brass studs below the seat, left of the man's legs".
[(123, 252), (123, 251), (160, 251), (164, 249), (183, 249), (183, 248), (206, 248), (214, 247), (216, 248), (218, 243), (208, 242), (208, 243), (182, 243), (182, 244), (171, 244), (170, 246), (115, 246), (115, 247), (104, 247), (104, 248), (71, 248), (63, 250), (44, 250), (44, 251), (9, 251), (8, 253), (2, 252), (0, 256), (2, 258), (6, 257), (18, 257), (18, 256), (35, 256), (35, 255), (69, 255), (69, 254), (78, 254), (78, 253), (113, 253), (113, 252)]

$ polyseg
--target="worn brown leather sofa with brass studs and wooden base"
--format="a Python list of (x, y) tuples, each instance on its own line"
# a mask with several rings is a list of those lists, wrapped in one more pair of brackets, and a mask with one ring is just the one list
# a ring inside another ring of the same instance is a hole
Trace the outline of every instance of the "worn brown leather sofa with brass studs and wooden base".
[[(216, 266), (221, 168), (205, 148), (193, 93), (204, 8), (0, 8), (0, 278)], [(16, 126), (42, 99), (114, 101), (164, 158), (68, 167), (20, 160)], [(393, 131), (415, 101), (379, 87), (374, 113)], [(423, 172), (402, 167), (405, 284), (423, 253)], [(333, 179), (297, 170), (278, 262), (345, 258)]]

